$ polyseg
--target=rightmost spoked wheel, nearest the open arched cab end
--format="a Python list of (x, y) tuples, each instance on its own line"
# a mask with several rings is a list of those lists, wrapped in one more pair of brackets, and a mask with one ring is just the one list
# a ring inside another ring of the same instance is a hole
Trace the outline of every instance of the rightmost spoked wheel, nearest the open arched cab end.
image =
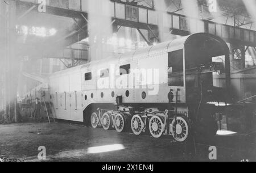
[(178, 142), (184, 142), (187, 140), (188, 135), (190, 133), (190, 125), (188, 123), (187, 117), (178, 116), (176, 117), (177, 123), (175, 123), (175, 119), (171, 124), (171, 133), (174, 139)]

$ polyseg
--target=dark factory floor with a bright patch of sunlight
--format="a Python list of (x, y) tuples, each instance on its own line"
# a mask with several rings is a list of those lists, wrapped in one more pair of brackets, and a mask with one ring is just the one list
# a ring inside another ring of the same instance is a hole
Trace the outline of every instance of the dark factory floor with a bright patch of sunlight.
[(195, 144), (67, 122), (0, 125), (0, 158), (39, 161), (38, 147), (45, 146), (46, 161), (209, 161), (213, 145), (217, 161), (256, 161), (254, 132), (208, 140), (196, 137)]

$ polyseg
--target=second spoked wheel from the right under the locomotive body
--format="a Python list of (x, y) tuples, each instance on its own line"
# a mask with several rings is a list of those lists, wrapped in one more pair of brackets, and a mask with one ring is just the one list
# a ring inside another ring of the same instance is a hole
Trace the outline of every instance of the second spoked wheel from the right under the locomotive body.
[(152, 116), (149, 122), (150, 134), (154, 138), (159, 138), (163, 134), (164, 124), (159, 116)]

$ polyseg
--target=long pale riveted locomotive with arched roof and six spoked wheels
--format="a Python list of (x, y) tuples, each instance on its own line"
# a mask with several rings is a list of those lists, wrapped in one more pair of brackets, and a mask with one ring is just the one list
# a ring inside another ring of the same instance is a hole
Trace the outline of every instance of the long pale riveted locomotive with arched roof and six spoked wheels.
[[(220, 74), (226, 85), (214, 82)], [(218, 106), (232, 101), (229, 48), (196, 33), (59, 71), (48, 85), (57, 119), (183, 142), (195, 131), (217, 132)]]

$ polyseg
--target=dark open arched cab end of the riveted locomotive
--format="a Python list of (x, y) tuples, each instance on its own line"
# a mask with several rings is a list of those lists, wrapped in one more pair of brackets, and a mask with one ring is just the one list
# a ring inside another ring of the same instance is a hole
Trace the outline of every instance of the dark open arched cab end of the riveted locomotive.
[[(220, 74), (226, 75), (225, 86), (214, 82), (214, 75)], [(188, 36), (183, 49), (168, 53), (168, 83), (185, 87), (185, 105), (193, 130), (215, 135), (218, 128), (214, 115), (219, 113), (215, 103), (228, 105), (231, 102), (228, 45), (219, 37), (206, 33)], [(172, 95), (171, 99), (174, 98)]]

